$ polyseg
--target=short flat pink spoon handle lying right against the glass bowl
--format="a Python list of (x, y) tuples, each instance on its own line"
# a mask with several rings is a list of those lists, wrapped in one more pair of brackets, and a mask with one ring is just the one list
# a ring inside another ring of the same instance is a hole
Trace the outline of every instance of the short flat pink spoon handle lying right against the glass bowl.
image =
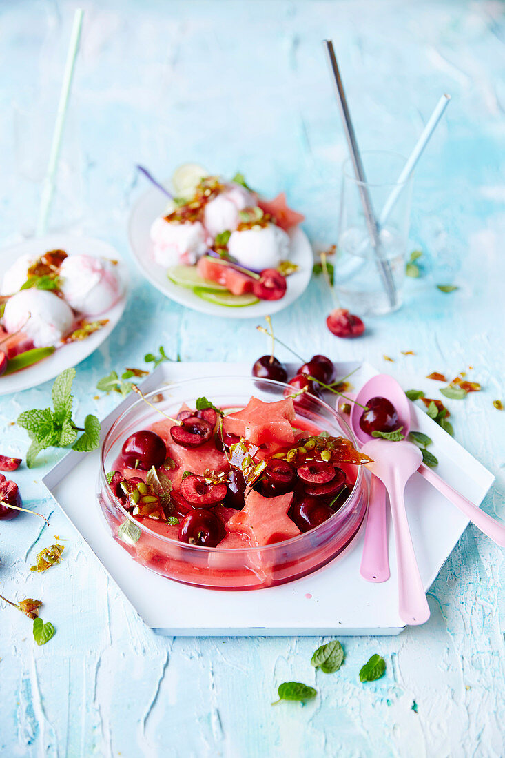
[(390, 577), (387, 553), (386, 488), (372, 475), (369, 512), (359, 573), (366, 581), (387, 581)]

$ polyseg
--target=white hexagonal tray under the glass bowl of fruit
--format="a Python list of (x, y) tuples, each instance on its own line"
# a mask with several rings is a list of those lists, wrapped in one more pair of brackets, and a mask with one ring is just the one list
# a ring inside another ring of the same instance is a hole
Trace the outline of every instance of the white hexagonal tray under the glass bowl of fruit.
[[(288, 365), (292, 373), (296, 366)], [(337, 376), (355, 368), (356, 391), (378, 374), (364, 363), (335, 363)], [(141, 387), (145, 392), (161, 384), (193, 377), (249, 375), (240, 363), (163, 363)], [(111, 424), (136, 400), (130, 393), (102, 421), (102, 439)], [(331, 398), (328, 398), (331, 402)], [(412, 406), (412, 428), (433, 440), (438, 473), (478, 505), (491, 487), (493, 475), (435, 424), (422, 409)], [(114, 579), (147, 625), (170, 635), (286, 634), (399, 634), (397, 566), (394, 539), (389, 530), (391, 578), (382, 584), (359, 575), (362, 534), (346, 555), (334, 559), (301, 579), (261, 590), (230, 592), (190, 587), (149, 571), (134, 561), (113, 539), (96, 500), (99, 451), (64, 456), (42, 479), (45, 487), (76, 526), (93, 553)], [(450, 551), (468, 525), (468, 519), (438, 490), (415, 474), (406, 487), (406, 510), (419, 572), (428, 590)], [(459, 603), (458, 597), (454, 598)], [(429, 623), (429, 622), (428, 622)]]

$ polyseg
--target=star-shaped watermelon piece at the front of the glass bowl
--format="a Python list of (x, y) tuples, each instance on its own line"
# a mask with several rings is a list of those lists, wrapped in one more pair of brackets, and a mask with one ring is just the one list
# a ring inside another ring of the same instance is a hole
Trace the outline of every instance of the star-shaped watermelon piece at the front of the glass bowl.
[(263, 497), (252, 490), (243, 509), (227, 522), (226, 531), (246, 534), (251, 547), (271, 545), (296, 537), (301, 534), (300, 529), (287, 515), (292, 500), (292, 492), (278, 497)]

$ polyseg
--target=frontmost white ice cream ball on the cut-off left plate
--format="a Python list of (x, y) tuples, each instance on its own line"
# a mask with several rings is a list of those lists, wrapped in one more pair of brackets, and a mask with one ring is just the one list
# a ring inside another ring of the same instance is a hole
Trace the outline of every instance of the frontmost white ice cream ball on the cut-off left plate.
[(36, 347), (49, 347), (71, 330), (74, 314), (48, 290), (23, 290), (5, 303), (3, 324), (10, 334), (23, 331)]

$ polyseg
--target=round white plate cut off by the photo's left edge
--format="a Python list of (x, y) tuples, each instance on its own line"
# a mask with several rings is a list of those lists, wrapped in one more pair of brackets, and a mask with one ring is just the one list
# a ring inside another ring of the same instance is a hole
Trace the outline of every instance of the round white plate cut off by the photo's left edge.
[(118, 271), (123, 283), (123, 295), (113, 308), (91, 318), (108, 318), (108, 324), (99, 329), (85, 340), (62, 345), (53, 352), (52, 356), (43, 361), (17, 371), (16, 374), (0, 377), (0, 395), (7, 395), (19, 390), (28, 390), (37, 387), (49, 379), (54, 379), (65, 368), (77, 365), (104, 342), (114, 329), (124, 312), (127, 301), (127, 271), (121, 262), (118, 251), (111, 245), (92, 237), (73, 236), (71, 234), (48, 234), (42, 237), (34, 237), (18, 245), (5, 247), (0, 250), (0, 277), (9, 268), (12, 262), (20, 255), (42, 255), (47, 250), (64, 250), (67, 255), (96, 255), (97, 257), (111, 258), (119, 261)]

